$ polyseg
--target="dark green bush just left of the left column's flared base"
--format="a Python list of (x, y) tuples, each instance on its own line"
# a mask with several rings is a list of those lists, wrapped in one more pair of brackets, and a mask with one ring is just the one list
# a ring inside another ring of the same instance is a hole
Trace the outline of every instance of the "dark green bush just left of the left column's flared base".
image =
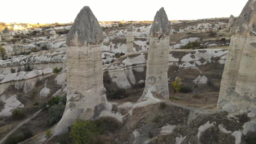
[(56, 122), (58, 122), (62, 118), (64, 110), (65, 105), (63, 105), (62, 103), (51, 106), (48, 111), (49, 125), (56, 124)]

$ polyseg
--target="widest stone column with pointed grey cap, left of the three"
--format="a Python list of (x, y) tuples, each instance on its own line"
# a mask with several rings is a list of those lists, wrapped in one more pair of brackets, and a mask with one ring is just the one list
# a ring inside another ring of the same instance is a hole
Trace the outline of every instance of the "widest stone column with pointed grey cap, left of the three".
[[(77, 119), (87, 120), (104, 108), (102, 52), (103, 34), (89, 7), (83, 7), (67, 35), (67, 103), (54, 134), (67, 132)], [(96, 114), (97, 113), (97, 114)]]

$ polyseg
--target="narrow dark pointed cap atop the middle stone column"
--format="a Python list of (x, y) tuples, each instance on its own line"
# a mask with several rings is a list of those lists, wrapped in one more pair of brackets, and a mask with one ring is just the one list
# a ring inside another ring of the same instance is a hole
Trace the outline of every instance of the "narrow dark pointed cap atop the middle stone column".
[(162, 7), (154, 16), (154, 21), (149, 34), (152, 37), (159, 37), (161, 35), (168, 36), (170, 34), (170, 31), (171, 22), (168, 20), (164, 7)]

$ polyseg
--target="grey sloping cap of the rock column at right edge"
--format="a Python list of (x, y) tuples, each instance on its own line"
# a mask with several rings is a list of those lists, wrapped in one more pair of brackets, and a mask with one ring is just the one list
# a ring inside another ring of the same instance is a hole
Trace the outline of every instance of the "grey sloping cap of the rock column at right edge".
[(249, 0), (230, 32), (237, 36), (256, 36), (256, 0)]

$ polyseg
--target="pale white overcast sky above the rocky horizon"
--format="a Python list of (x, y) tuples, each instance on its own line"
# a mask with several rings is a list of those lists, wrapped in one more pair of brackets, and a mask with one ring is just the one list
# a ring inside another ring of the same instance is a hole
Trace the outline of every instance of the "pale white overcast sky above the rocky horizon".
[[(98, 21), (154, 20), (161, 8), (169, 20), (239, 16), (248, 0), (1, 0), (3, 23), (70, 23), (84, 6)], [(4, 6), (4, 7), (3, 7)]]

